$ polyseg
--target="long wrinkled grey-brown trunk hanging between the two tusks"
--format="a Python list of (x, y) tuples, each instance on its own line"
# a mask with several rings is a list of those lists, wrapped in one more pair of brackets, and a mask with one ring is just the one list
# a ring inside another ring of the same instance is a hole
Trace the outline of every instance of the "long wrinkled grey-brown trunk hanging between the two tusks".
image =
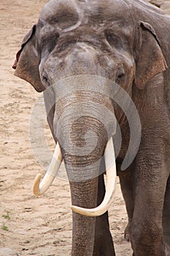
[[(80, 208), (96, 208), (98, 176), (107, 132), (98, 118), (90, 115), (86, 100), (77, 106), (79, 113), (73, 108), (74, 105), (71, 109), (66, 108), (61, 114), (61, 124), (60, 119), (57, 122), (57, 138), (69, 177), (72, 205)], [(90, 111), (92, 108), (93, 105)], [(86, 110), (86, 116), (82, 113), (83, 110)], [(93, 255), (96, 218), (82, 216), (74, 211), (72, 218), (72, 255)]]

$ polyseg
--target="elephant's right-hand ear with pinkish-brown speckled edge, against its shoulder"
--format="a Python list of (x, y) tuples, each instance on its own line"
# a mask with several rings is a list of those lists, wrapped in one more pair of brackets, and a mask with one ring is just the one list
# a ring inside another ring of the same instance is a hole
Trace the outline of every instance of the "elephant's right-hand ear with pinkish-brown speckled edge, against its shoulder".
[(149, 23), (139, 23), (139, 50), (136, 52), (135, 84), (143, 89), (149, 80), (167, 68), (158, 37)]

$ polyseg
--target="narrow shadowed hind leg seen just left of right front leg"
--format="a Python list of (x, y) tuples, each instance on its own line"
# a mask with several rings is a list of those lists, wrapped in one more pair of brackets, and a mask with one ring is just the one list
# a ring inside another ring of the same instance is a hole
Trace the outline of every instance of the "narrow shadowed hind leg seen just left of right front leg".
[(122, 190), (123, 198), (125, 200), (125, 208), (128, 214), (128, 225), (125, 227), (125, 240), (131, 241), (131, 221), (134, 214), (134, 193), (133, 183), (130, 171), (118, 172), (120, 179), (120, 187)]

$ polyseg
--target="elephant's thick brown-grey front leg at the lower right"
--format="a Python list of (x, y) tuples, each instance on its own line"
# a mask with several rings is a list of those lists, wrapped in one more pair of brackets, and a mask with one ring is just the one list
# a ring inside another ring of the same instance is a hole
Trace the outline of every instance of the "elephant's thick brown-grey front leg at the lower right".
[(134, 170), (135, 203), (131, 245), (135, 256), (169, 256), (163, 241), (163, 203), (167, 173), (157, 165)]

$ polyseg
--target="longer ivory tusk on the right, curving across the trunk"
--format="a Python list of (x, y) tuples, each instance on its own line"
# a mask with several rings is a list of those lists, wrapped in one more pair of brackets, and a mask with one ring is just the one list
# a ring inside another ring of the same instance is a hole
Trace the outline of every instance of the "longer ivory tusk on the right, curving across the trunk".
[(72, 206), (72, 211), (77, 212), (88, 217), (97, 217), (108, 211), (110, 204), (112, 203), (112, 197), (115, 192), (116, 183), (116, 165), (115, 165), (115, 151), (113, 147), (112, 138), (107, 142), (107, 146), (104, 151), (104, 159), (106, 164), (106, 193), (103, 202), (96, 208), (81, 208), (78, 206)]

